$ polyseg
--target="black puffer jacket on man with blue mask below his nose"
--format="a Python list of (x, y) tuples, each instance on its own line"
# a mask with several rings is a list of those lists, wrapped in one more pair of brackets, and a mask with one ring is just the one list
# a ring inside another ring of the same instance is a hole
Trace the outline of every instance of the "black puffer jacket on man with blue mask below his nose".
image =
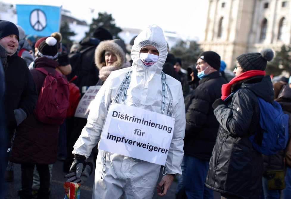
[(221, 97), (221, 86), (225, 83), (216, 71), (202, 78), (193, 91), (186, 105), (184, 154), (209, 161), (219, 126), (212, 104)]

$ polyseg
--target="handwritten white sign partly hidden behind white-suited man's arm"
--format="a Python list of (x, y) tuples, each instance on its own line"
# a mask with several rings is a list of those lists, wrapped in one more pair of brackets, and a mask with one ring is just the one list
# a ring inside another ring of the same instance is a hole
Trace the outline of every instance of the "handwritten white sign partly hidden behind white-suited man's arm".
[(101, 86), (90, 86), (83, 97), (81, 98), (75, 112), (75, 117), (87, 118), (90, 112), (90, 103), (95, 99), (95, 96)]

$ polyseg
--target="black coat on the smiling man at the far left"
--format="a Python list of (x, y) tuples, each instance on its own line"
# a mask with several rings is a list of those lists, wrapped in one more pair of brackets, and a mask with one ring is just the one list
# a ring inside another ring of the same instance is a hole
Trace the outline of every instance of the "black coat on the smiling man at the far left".
[(24, 59), (15, 53), (12, 56), (7, 56), (7, 63), (8, 67), (5, 71), (5, 108), (8, 138), (11, 139), (16, 128), (14, 110), (21, 108), (28, 117), (35, 109), (37, 90)]

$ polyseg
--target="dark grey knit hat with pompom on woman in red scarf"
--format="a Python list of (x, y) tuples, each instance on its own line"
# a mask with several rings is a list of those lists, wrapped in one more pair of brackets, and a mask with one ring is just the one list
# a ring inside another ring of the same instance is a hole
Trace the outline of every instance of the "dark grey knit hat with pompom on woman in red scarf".
[(265, 70), (267, 61), (271, 61), (274, 52), (270, 48), (264, 48), (261, 53), (245, 53), (237, 57), (237, 61), (246, 72), (249, 70)]

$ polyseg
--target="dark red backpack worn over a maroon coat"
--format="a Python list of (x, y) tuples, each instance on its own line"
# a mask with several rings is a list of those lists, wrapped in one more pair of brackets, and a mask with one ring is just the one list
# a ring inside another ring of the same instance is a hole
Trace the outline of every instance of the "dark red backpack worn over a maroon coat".
[(68, 82), (57, 71), (55, 71), (55, 75), (52, 75), (43, 68), (35, 70), (46, 74), (46, 78), (43, 81), (33, 113), (43, 123), (62, 124), (69, 107)]

